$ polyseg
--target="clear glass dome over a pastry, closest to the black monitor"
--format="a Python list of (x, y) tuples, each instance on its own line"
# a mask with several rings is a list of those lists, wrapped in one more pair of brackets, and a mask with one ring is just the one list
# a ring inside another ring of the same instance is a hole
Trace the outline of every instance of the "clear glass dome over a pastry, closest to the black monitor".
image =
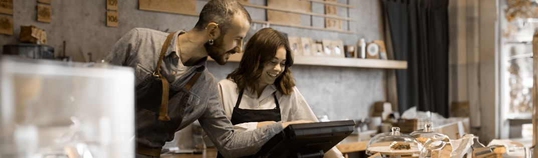
[[(392, 132), (379, 133), (370, 139), (366, 154), (391, 155), (390, 157), (416, 157), (422, 150), (422, 144), (415, 137), (400, 133), (400, 127), (392, 127)], [(386, 157), (386, 156), (383, 156)]]

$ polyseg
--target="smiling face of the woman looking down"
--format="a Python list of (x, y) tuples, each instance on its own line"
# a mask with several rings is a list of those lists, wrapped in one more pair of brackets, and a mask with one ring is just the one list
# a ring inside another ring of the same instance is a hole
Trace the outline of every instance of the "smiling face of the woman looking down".
[(274, 80), (282, 75), (286, 67), (286, 49), (284, 47), (279, 47), (277, 49), (277, 54), (272, 59), (271, 62), (264, 65), (264, 71), (258, 79), (258, 84), (265, 86), (268, 84), (273, 84)]

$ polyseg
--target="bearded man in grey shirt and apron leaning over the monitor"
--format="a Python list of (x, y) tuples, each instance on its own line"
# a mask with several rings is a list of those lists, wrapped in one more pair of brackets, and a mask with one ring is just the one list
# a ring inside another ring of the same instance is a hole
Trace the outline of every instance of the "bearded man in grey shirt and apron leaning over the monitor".
[(250, 23), (249, 13), (237, 1), (213, 0), (189, 32), (134, 28), (107, 52), (105, 62), (136, 71), (136, 157), (159, 157), (174, 132), (196, 119), (224, 157), (252, 155), (283, 127), (305, 122), (233, 131), (206, 61), (210, 56), (223, 65), (240, 52)]

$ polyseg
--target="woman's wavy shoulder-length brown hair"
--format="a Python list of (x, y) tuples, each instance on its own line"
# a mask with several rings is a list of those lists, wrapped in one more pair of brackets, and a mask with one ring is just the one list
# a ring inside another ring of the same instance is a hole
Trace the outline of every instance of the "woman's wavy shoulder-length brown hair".
[[(292, 71), (289, 70), (289, 67), (293, 65), (293, 51), (289, 48), (286, 37), (272, 28), (262, 28), (252, 35), (246, 43), (239, 67), (226, 78), (233, 79), (239, 91), (247, 87), (257, 89), (257, 80), (264, 73), (264, 66), (273, 60), (280, 47), (286, 49), (286, 66), (282, 75), (274, 81), (274, 85), (280, 93), (290, 95), (295, 86)], [(254, 91), (251, 92), (254, 94)]]

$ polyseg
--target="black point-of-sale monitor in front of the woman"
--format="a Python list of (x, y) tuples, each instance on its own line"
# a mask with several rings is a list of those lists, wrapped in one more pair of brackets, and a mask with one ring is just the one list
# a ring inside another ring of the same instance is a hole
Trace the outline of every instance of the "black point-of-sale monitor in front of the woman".
[(355, 121), (291, 124), (261, 147), (253, 157), (323, 157), (353, 132)]

